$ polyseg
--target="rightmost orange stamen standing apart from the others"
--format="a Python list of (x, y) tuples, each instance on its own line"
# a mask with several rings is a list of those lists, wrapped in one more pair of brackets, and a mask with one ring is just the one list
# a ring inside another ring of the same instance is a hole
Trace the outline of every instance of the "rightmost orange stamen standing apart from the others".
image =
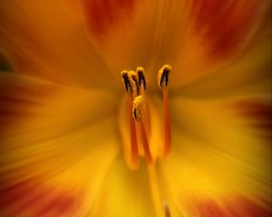
[(163, 113), (163, 132), (164, 132), (164, 151), (163, 155), (166, 156), (170, 152), (170, 106), (168, 94), (168, 81), (170, 75), (170, 65), (161, 67), (158, 73), (159, 86), (162, 89), (162, 113)]

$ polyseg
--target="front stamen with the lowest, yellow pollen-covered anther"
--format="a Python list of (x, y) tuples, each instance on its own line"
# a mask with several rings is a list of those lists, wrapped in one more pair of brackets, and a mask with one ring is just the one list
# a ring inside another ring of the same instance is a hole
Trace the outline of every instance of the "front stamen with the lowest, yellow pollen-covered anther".
[(137, 123), (140, 124), (141, 139), (142, 139), (144, 154), (148, 163), (152, 163), (151, 149), (149, 146), (146, 129), (144, 127), (144, 124), (141, 118), (142, 117), (142, 102), (143, 102), (143, 97), (141, 95), (136, 97), (133, 100), (132, 116), (133, 118), (135, 118)]

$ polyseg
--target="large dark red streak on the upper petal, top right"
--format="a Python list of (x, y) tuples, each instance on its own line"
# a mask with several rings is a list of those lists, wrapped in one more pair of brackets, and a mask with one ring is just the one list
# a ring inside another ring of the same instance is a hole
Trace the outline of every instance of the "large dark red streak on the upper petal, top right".
[(194, 0), (196, 33), (203, 33), (210, 55), (225, 57), (236, 51), (257, 17), (261, 1)]

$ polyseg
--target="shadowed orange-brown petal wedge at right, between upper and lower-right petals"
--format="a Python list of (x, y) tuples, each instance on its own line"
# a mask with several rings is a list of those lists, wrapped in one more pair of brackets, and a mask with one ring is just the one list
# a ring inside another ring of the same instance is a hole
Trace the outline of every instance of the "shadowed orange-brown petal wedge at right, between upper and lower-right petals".
[[(199, 77), (173, 92), (187, 97), (200, 98), (269, 92), (271, 44), (271, 28), (269, 28), (259, 35), (257, 42), (251, 44), (247, 52), (229, 63), (228, 66)], [(173, 76), (175, 79), (175, 75)], [(183, 82), (182, 80), (180, 82)], [(172, 85), (172, 78), (170, 78), (170, 85)]]

